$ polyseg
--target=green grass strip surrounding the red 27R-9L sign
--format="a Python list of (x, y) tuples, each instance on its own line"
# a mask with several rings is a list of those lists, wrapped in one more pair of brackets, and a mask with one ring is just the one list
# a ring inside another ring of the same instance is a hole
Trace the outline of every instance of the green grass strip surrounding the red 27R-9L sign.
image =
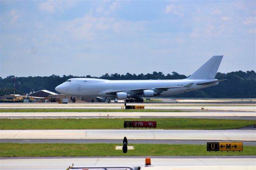
[(256, 120), (123, 118), (123, 119), (0, 119), (0, 129), (120, 129), (124, 121), (156, 121), (158, 129), (235, 129), (255, 125)]

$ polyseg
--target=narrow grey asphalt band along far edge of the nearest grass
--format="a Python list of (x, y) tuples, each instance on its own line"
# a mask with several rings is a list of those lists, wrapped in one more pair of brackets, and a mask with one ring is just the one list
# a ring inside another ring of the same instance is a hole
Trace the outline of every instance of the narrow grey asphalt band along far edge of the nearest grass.
[[(120, 143), (122, 139), (0, 139), (0, 143)], [(256, 146), (256, 141), (230, 140), (134, 140), (130, 144), (206, 144), (207, 142), (243, 142), (243, 146)]]

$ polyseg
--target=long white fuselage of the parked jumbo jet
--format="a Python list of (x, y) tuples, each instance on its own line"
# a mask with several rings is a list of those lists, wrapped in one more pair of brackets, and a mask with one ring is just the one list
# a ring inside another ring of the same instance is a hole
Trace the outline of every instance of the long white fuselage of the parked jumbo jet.
[[(218, 85), (218, 82), (208, 85), (196, 85), (197, 83), (204, 83), (209, 81), (216, 81), (218, 79), (207, 80), (106, 80), (106, 79), (91, 79), (91, 78), (73, 78), (62, 83), (56, 87), (56, 91), (82, 97), (115, 97), (116, 95), (108, 94), (112, 91), (123, 91), (131, 94), (133, 97), (143, 97), (142, 93), (132, 94), (133, 89), (154, 89), (165, 87), (176, 87), (166, 89), (162, 91), (160, 96), (175, 95), (184, 93), (187, 91), (193, 91), (202, 89), (214, 85)], [(193, 83), (190, 87), (184, 87), (190, 83)], [(156, 91), (156, 90), (155, 90)]]

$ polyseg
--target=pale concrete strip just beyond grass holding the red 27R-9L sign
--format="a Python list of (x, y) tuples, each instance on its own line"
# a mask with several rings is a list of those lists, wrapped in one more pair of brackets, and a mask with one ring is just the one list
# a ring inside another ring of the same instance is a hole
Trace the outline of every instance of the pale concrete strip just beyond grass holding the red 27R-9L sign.
[(255, 112), (2, 112), (1, 119), (200, 118), (255, 120)]

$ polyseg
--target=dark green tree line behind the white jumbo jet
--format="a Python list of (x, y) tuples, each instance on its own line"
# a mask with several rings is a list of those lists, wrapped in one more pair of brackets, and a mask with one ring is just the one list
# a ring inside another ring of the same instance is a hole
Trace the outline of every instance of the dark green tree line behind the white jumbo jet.
[[(0, 77), (0, 96), (4, 94), (14, 93), (14, 75), (10, 75), (4, 79)], [(83, 77), (73, 75), (36, 76), (36, 77), (16, 77), (15, 94), (25, 95), (33, 91), (48, 90), (55, 92), (55, 87), (70, 78), (97, 78), (108, 80), (148, 80), (148, 79), (185, 79), (186, 75), (180, 75), (176, 72), (164, 75), (162, 72), (148, 74), (130, 74), (120, 75), (118, 73), (102, 75), (100, 77), (92, 77), (86, 75)], [(217, 73), (216, 79), (227, 79), (219, 83), (219, 85), (200, 89), (196, 91), (186, 92), (172, 97), (188, 97), (188, 98), (256, 98), (256, 73), (255, 71), (234, 71), (230, 73)]]

